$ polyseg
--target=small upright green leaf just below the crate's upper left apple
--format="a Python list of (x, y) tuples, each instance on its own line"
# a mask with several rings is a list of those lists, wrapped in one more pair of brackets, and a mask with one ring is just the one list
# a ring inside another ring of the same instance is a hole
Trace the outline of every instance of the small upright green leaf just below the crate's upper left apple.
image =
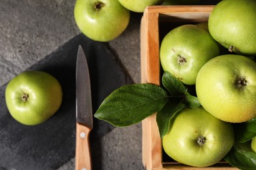
[(182, 84), (179, 79), (167, 71), (163, 73), (162, 83), (172, 96), (178, 96), (181, 95), (181, 93), (186, 92), (184, 84)]

